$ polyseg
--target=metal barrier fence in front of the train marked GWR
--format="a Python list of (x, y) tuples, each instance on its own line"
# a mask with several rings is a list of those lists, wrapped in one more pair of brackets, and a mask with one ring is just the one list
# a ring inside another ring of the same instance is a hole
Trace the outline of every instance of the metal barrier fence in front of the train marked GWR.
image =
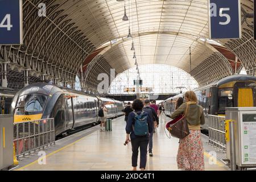
[(14, 123), (16, 158), (55, 144), (54, 118)]

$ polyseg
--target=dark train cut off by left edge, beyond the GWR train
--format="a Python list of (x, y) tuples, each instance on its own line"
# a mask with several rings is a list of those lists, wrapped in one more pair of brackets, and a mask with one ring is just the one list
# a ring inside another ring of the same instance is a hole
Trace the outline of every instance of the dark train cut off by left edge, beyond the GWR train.
[(15, 89), (0, 86), (0, 114), (11, 113), (11, 102), (16, 92)]

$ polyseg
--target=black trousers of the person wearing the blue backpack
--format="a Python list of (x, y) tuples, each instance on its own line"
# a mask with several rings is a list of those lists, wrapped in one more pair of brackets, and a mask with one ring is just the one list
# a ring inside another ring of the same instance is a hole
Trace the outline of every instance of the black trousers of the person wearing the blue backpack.
[(141, 159), (139, 168), (146, 168), (148, 141), (148, 137), (137, 137), (135, 139), (131, 139), (131, 148), (133, 150), (133, 155), (131, 156), (131, 164), (133, 167), (137, 167), (138, 153), (140, 151)]

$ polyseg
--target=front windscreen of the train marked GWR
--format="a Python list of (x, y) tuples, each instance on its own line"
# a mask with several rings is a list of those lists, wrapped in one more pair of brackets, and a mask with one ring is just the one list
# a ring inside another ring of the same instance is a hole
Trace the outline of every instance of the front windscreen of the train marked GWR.
[(16, 107), (19, 107), (22, 101), (25, 102), (24, 109), (16, 109), (17, 115), (41, 114), (46, 105), (47, 96), (43, 94), (26, 94), (20, 96)]

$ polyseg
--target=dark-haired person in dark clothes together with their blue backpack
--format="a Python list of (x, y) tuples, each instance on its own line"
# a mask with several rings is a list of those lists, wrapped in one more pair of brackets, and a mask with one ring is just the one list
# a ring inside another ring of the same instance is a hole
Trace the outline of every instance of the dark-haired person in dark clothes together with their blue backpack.
[[(147, 146), (150, 133), (153, 131), (152, 119), (143, 111), (143, 102), (139, 99), (133, 101), (134, 111), (128, 115), (126, 123), (125, 143), (131, 142), (133, 155), (131, 164), (133, 171), (137, 171), (138, 153), (140, 150), (141, 158), (139, 168), (144, 171), (147, 162)], [(130, 135), (130, 138), (129, 138)]]

